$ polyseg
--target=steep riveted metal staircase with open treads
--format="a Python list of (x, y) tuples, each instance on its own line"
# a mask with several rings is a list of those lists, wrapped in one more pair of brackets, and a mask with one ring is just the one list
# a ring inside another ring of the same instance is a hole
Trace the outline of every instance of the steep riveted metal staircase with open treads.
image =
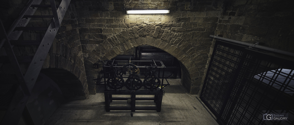
[[(0, 92), (0, 110), (5, 110), (5, 116), (1, 125), (18, 124), (41, 71), (44, 60), (47, 57), (52, 42), (64, 18), (71, 0), (61, 0), (59, 5), (54, 0), (49, 0), (50, 5), (41, 4), (42, 0), (30, 0), (24, 7), (19, 17), (14, 21), (8, 31), (5, 31), (0, 21), (0, 67), (9, 63), (13, 71), (0, 73), (0, 87), (7, 91)], [(38, 8), (51, 8), (52, 15), (34, 15)], [(51, 18), (48, 27), (27, 27), (31, 18)], [(44, 30), (45, 34), (40, 40), (19, 40), (23, 31)], [(16, 56), (13, 46), (37, 45), (34, 56)], [(21, 63), (28, 63), (26, 70), (21, 70)], [(26, 71), (25, 73), (23, 71)], [(13, 73), (13, 74), (12, 74)], [(1, 120), (1, 119), (0, 119)]]

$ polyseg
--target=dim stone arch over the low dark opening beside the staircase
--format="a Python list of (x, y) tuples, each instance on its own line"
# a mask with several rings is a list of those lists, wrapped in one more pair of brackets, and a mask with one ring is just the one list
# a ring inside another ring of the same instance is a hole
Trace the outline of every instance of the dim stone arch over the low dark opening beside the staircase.
[[(78, 62), (81, 61), (81, 62)], [(87, 99), (89, 96), (82, 60), (66, 58), (50, 53), (44, 61), (41, 73), (60, 87), (65, 98)]]

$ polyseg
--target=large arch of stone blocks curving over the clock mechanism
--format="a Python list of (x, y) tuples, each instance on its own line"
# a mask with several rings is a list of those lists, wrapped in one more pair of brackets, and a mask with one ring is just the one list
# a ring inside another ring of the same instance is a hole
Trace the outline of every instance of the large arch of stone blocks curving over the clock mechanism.
[[(142, 24), (123, 30), (121, 33), (107, 38), (93, 49), (85, 63), (93, 64), (99, 60), (109, 60), (128, 49), (141, 45), (155, 46), (176, 57), (185, 67), (184, 69), (188, 73), (186, 75), (189, 75), (186, 77), (188, 80), (185, 83), (182, 82), (183, 86), (189, 93), (198, 94), (201, 84), (201, 80), (198, 79), (202, 76), (200, 76), (196, 63), (188, 54), (191, 51), (189, 43), (179, 34), (161, 26)], [(86, 74), (87, 77), (91, 77), (90, 79), (96, 79), (98, 75), (95, 69), (86, 71)], [(92, 74), (94, 75), (91, 76)], [(196, 80), (198, 81), (196, 82)]]

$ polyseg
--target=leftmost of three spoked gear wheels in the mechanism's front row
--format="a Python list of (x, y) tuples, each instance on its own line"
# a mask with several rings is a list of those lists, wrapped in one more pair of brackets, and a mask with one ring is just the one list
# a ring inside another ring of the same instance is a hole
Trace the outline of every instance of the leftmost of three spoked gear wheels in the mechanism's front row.
[(109, 77), (106, 81), (106, 85), (111, 89), (121, 89), (124, 85), (125, 81), (121, 76)]

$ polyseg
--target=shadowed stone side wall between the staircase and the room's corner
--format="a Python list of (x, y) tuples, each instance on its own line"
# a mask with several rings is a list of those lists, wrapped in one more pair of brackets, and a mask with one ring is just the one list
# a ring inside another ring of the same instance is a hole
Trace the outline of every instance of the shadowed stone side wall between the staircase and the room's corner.
[[(58, 75), (54, 77), (58, 79), (57, 84), (63, 85), (64, 88), (61, 89), (67, 93), (65, 96), (74, 99), (87, 99), (89, 91), (77, 25), (75, 7), (71, 3), (51, 45), (49, 54), (44, 60), (42, 69), (49, 68), (49, 71), (52, 69), (51, 72), (55, 72), (54, 69), (61, 69), (59, 70), (60, 77)], [(62, 79), (64, 75), (70, 76), (69, 79)], [(59, 83), (59, 81), (65, 84)]]

